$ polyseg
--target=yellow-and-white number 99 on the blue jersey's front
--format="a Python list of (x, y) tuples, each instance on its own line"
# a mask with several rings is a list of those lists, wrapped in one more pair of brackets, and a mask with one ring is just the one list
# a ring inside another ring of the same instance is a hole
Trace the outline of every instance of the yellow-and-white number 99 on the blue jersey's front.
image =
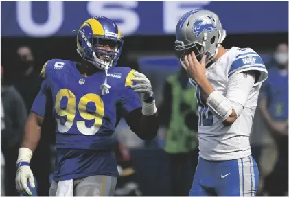
[[(60, 108), (60, 101), (63, 97), (67, 97), (68, 100), (65, 109)], [(96, 110), (94, 113), (87, 112), (86, 105), (89, 102), (95, 104)], [(83, 135), (94, 135), (98, 130), (100, 130), (102, 119), (104, 117), (104, 102), (102, 101), (102, 98), (96, 94), (86, 94), (80, 98), (77, 106), (76, 96), (69, 89), (60, 89), (56, 95), (55, 111), (62, 117), (66, 116), (66, 122), (63, 125), (60, 123), (60, 119), (56, 118), (59, 132), (67, 132), (71, 129), (74, 118), (76, 117), (76, 107), (78, 107), (80, 116), (84, 119), (84, 121), (76, 121), (76, 126), (79, 132)], [(86, 127), (85, 120), (94, 120), (93, 126)]]

